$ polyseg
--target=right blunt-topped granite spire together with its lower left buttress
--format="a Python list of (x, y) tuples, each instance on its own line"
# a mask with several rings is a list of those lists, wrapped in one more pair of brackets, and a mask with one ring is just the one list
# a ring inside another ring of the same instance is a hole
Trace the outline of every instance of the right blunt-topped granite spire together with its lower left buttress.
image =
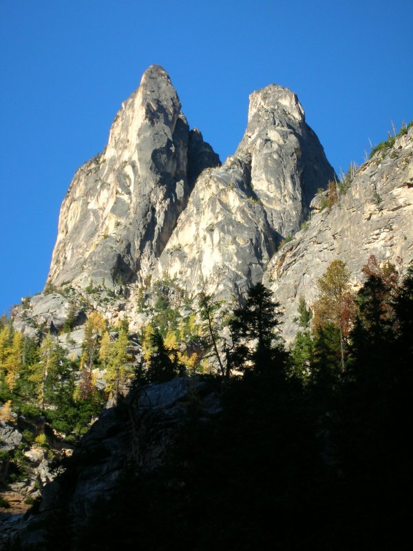
[(167, 272), (191, 292), (244, 294), (334, 176), (297, 96), (277, 85), (253, 92), (242, 142), (198, 178), (154, 278)]

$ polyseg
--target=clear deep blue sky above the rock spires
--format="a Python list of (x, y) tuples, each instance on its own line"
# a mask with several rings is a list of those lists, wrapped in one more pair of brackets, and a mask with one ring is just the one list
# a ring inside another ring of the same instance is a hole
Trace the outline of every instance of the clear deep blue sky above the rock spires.
[(43, 288), (74, 171), (149, 65), (222, 160), (248, 94), (289, 87), (339, 171), (413, 119), (412, 21), (412, 0), (0, 0), (0, 313)]

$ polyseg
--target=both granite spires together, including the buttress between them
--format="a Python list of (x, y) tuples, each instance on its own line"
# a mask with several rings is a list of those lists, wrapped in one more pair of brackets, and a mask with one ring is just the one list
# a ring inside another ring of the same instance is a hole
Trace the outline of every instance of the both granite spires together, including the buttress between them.
[(112, 288), (166, 271), (191, 291), (207, 282), (229, 295), (261, 280), (334, 171), (295, 94), (270, 85), (250, 99), (244, 138), (219, 168), (165, 70), (149, 67), (103, 153), (74, 176), (48, 281)]

